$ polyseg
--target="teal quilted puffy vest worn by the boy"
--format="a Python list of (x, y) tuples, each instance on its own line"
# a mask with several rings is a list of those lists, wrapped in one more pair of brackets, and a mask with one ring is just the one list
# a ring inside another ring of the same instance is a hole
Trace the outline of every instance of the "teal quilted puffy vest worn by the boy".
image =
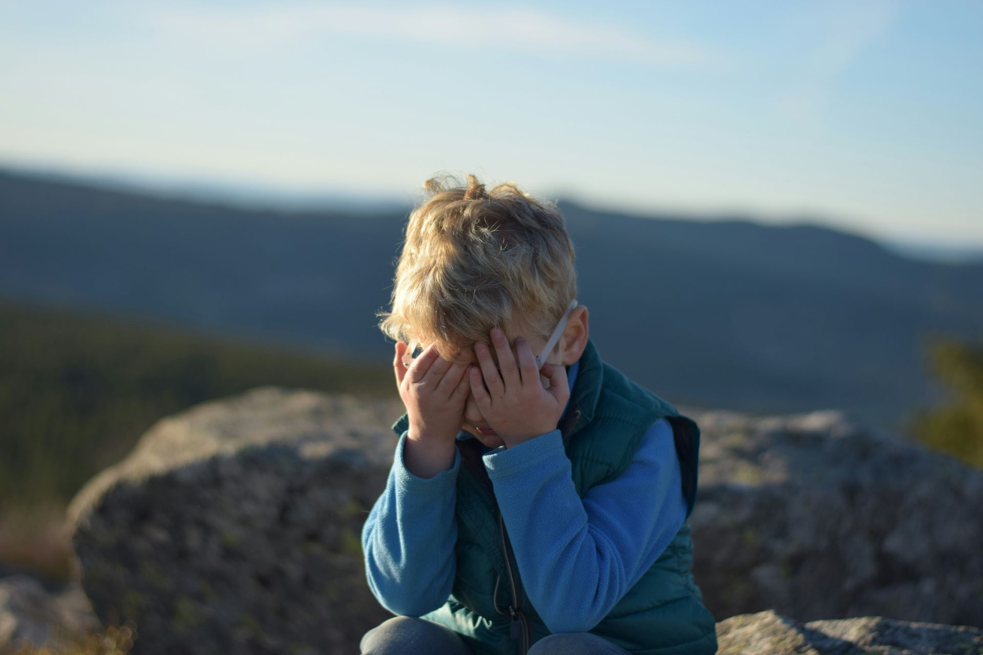
[[(627, 468), (660, 417), (672, 426), (688, 519), (697, 490), (696, 422), (602, 361), (588, 339), (558, 426), (581, 498)], [(408, 422), (403, 414), (393, 431), (402, 435)], [(550, 632), (522, 588), (481, 443), (460, 439), (457, 447), (457, 571), (447, 601), (422, 618), (461, 634), (476, 655), (525, 655)], [(693, 540), (684, 522), (659, 559), (590, 632), (638, 655), (716, 653), (716, 621), (703, 605), (692, 565)]]

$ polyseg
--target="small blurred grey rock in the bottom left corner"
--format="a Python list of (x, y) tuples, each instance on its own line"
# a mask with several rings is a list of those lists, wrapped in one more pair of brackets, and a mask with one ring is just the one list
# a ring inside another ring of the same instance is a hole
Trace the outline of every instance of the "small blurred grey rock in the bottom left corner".
[(96, 628), (78, 585), (52, 594), (29, 575), (0, 579), (0, 653), (29, 645), (55, 648)]

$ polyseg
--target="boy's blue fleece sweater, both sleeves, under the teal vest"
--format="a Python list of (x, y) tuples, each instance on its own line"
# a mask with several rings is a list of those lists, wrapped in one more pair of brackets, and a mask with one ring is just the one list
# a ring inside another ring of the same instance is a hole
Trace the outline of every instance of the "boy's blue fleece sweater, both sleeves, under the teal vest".
[[(578, 364), (567, 372), (571, 388)], [(563, 409), (560, 420), (565, 414)], [(457, 438), (475, 437), (461, 430)], [(455, 449), (450, 468), (423, 478), (406, 468), (405, 443), (403, 432), (385, 490), (362, 528), (362, 550), (378, 602), (393, 614), (420, 617), (443, 605), (454, 582), (461, 455)], [(522, 584), (551, 632), (597, 626), (686, 517), (665, 418), (653, 423), (620, 476), (592, 487), (583, 499), (558, 429), (513, 448), (482, 447)]]

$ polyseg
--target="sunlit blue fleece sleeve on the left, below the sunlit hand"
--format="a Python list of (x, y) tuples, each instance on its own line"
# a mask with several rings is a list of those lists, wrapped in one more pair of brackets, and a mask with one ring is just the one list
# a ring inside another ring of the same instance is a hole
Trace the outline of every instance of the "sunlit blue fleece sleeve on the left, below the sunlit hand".
[(419, 477), (403, 460), (399, 437), (385, 489), (362, 527), (366, 577), (378, 602), (395, 615), (420, 617), (443, 605), (456, 572), (457, 472), (454, 464), (434, 477)]

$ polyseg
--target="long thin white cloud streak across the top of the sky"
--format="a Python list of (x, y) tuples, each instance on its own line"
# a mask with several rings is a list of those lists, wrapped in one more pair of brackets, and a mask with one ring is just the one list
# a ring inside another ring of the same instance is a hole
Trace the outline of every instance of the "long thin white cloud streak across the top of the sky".
[(704, 43), (653, 38), (627, 27), (577, 21), (559, 14), (518, 7), (160, 5), (144, 7), (141, 11), (158, 29), (240, 51), (349, 34), (449, 47), (604, 58), (659, 68), (723, 69), (732, 61)]

